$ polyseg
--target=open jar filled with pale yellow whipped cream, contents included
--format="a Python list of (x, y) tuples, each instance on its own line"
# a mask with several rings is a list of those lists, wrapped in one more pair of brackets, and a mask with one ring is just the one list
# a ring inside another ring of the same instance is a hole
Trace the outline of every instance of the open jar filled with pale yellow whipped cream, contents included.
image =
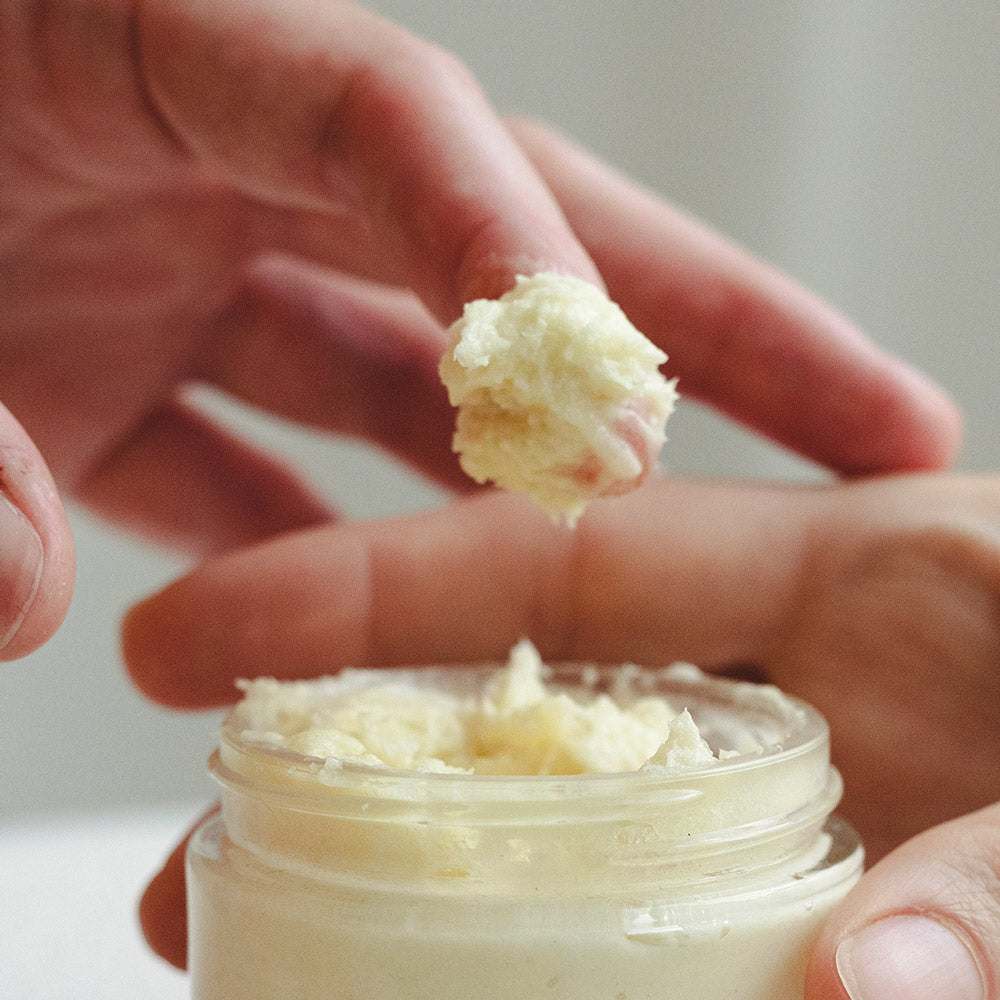
[(808, 705), (662, 670), (256, 680), (188, 849), (194, 1000), (802, 1000), (860, 876)]

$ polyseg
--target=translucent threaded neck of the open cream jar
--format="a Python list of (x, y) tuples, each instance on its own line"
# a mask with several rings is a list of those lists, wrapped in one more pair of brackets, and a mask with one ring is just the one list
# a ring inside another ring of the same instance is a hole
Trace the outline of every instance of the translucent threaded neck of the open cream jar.
[(270, 867), (491, 895), (703, 889), (807, 868), (841, 791), (825, 726), (791, 747), (680, 774), (398, 772), (226, 734), (211, 766), (227, 836)]

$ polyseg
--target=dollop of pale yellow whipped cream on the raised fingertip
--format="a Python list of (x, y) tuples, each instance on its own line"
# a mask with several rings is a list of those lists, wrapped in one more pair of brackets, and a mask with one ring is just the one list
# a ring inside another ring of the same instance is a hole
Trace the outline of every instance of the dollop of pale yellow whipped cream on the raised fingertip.
[(590, 500), (638, 486), (666, 440), (667, 356), (580, 278), (519, 277), (465, 306), (441, 380), (453, 448), (477, 482), (527, 494), (572, 526)]

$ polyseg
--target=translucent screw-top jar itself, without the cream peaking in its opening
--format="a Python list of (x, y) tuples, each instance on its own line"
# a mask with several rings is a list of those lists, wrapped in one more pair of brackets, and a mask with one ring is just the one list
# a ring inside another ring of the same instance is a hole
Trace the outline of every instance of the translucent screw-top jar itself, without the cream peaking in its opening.
[[(460, 693), (479, 668), (365, 672)], [(188, 852), (194, 1000), (801, 1000), (862, 870), (828, 731), (773, 688), (639, 675), (714, 750), (686, 771), (404, 772), (248, 741)], [(613, 674), (558, 666), (568, 689)]]

